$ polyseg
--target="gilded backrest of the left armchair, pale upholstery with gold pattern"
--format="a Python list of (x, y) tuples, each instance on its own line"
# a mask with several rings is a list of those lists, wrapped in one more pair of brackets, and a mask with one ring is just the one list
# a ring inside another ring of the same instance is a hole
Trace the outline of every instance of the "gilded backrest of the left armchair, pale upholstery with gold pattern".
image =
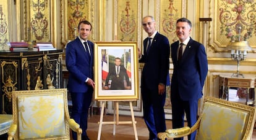
[(67, 89), (13, 91), (15, 139), (70, 139)]

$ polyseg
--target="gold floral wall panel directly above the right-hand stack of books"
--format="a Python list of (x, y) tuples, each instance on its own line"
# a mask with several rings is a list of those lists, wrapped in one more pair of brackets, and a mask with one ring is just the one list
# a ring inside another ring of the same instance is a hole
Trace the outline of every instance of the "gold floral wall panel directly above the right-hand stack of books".
[(51, 42), (51, 1), (22, 1), (20, 10), (22, 11), (22, 39), (38, 42)]

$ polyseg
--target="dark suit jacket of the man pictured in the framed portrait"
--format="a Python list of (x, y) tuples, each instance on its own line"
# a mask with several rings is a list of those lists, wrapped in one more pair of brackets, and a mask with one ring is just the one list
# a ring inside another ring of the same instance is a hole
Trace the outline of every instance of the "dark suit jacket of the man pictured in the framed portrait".
[(109, 69), (108, 76), (106, 77), (106, 86), (108, 84), (111, 85), (110, 89), (112, 90), (124, 90), (124, 85), (130, 86), (130, 80), (129, 76), (127, 74), (126, 68), (124, 66), (120, 66), (119, 75), (117, 77), (116, 74), (116, 66), (113, 66), (111, 69)]

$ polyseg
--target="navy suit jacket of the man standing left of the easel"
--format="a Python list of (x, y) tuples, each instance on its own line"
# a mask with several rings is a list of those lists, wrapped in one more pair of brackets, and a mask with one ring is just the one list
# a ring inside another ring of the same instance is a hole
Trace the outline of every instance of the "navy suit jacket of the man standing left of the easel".
[(67, 44), (66, 66), (69, 71), (68, 88), (71, 92), (86, 92), (87, 77), (93, 79), (93, 42), (87, 41), (90, 47), (90, 56), (85, 52), (82, 42), (77, 37)]

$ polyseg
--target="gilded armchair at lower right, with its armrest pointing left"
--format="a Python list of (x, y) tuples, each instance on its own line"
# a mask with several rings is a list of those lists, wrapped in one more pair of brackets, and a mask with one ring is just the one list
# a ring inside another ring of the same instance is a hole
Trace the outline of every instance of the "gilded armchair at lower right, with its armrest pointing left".
[(255, 107), (205, 97), (203, 111), (194, 126), (168, 129), (158, 138), (181, 138), (197, 130), (196, 139), (251, 139)]

